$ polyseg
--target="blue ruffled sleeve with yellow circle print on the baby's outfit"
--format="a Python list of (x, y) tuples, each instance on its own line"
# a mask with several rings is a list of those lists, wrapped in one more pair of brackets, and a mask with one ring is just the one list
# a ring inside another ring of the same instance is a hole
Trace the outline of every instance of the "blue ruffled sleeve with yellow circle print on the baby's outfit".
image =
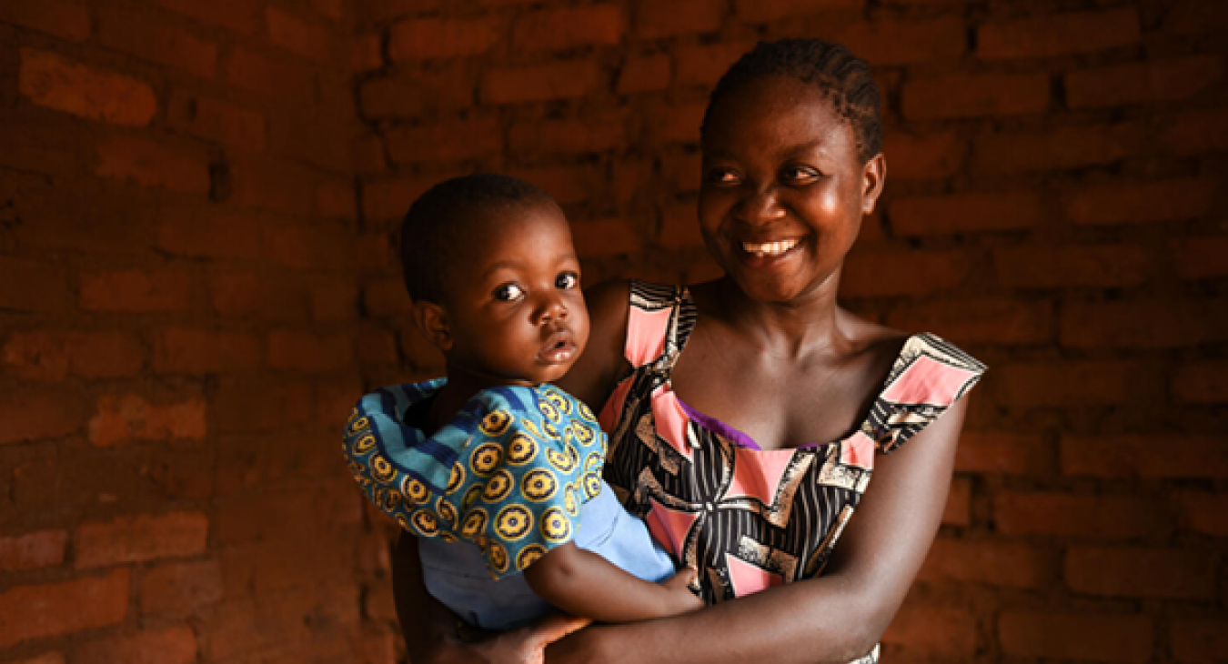
[(604, 433), (587, 406), (553, 385), (500, 387), (470, 399), (426, 438), (456, 450), (442, 482), (404, 463), (415, 460), (409, 448), (381, 444), (421, 436), (395, 412), (372, 417), (366, 409), (356, 417), (367, 431), (398, 428), (366, 446), (352, 420), (346, 430), (350, 468), (368, 500), (418, 536), (478, 544), (495, 578), (571, 541), (580, 504), (600, 491)]

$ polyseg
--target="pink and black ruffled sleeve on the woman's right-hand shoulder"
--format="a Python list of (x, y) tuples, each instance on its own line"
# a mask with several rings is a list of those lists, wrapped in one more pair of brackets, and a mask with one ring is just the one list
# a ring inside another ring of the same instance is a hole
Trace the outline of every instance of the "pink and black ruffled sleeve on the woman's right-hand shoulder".
[(932, 334), (904, 344), (862, 431), (893, 452), (937, 420), (985, 373), (985, 365)]

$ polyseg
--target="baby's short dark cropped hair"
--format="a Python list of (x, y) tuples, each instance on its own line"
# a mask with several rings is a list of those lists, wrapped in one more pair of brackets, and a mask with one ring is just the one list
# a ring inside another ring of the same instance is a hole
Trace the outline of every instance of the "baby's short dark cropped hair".
[(540, 187), (511, 176), (481, 173), (443, 180), (418, 198), (400, 227), (400, 263), (409, 297), (441, 302), (445, 270), (462, 260), (492, 215), (512, 205), (558, 205)]

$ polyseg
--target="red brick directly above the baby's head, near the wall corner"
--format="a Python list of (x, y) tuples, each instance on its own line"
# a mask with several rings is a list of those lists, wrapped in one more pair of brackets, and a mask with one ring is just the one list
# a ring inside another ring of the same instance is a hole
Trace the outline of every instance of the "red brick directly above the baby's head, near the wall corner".
[(499, 118), (448, 120), (391, 130), (386, 144), (395, 163), (456, 162), (502, 151), (503, 131)]

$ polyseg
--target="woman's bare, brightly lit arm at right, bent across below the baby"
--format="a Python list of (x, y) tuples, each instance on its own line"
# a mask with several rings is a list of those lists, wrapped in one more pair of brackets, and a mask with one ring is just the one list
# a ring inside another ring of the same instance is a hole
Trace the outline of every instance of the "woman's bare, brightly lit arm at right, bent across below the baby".
[(966, 398), (873, 479), (823, 576), (648, 622), (592, 627), (553, 643), (550, 664), (772, 662), (846, 664), (890, 623), (942, 520)]

